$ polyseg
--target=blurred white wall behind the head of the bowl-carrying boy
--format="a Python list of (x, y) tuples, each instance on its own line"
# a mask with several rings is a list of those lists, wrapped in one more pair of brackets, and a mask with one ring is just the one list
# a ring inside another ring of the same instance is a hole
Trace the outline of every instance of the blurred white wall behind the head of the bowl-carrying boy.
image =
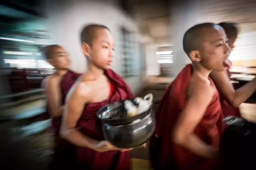
[(134, 55), (134, 75), (126, 79), (132, 92), (137, 94), (143, 88), (143, 81), (140, 75), (139, 42), (140, 36), (135, 22), (113, 5), (112, 0), (102, 2), (95, 1), (62, 1), (52, 3), (47, 2), (47, 13), (49, 26), (52, 28), (53, 42), (63, 45), (70, 53), (72, 69), (77, 72), (87, 70), (87, 61), (81, 52), (80, 32), (88, 23), (100, 23), (107, 26), (115, 39), (116, 49), (113, 57), (113, 70), (121, 72), (120, 58), (122, 57), (120, 48), (121, 26), (128, 31), (134, 32), (135, 55)]

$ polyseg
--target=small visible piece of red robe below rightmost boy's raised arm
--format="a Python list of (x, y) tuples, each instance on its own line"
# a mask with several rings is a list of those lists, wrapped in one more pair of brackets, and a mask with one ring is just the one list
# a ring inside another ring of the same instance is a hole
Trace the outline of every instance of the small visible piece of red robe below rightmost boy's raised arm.
[[(228, 69), (227, 69), (227, 74), (228, 74), (228, 77), (230, 77), (230, 71)], [(226, 118), (228, 116), (241, 117), (239, 108), (230, 106), (230, 104), (228, 104), (228, 102), (226, 102), (226, 100), (224, 99), (224, 97), (222, 95), (220, 95), (220, 101), (221, 101), (221, 108), (222, 108), (224, 118)]]

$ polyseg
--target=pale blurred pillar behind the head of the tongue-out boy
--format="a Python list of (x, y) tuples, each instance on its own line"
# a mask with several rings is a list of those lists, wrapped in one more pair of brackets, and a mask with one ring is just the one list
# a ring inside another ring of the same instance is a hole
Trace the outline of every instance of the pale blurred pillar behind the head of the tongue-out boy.
[(184, 33), (197, 23), (200, 23), (200, 0), (175, 0), (171, 4), (171, 44), (174, 45), (173, 77), (176, 77), (186, 64), (191, 63), (183, 51), (182, 39)]

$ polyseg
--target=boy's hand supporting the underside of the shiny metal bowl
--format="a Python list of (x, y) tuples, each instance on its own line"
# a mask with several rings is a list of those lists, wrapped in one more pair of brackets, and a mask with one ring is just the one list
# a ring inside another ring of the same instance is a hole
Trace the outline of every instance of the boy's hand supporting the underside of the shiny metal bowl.
[(100, 141), (98, 144), (96, 144), (95, 147), (92, 147), (91, 149), (97, 151), (97, 152), (106, 152), (106, 151), (130, 151), (131, 149), (122, 149), (115, 147), (113, 144), (111, 144), (108, 141)]

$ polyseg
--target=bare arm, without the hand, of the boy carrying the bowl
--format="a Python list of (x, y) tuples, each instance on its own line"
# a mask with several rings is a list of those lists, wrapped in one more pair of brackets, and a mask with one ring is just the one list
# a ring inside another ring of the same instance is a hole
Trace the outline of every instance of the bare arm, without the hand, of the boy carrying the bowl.
[(82, 85), (78, 84), (67, 95), (61, 125), (61, 136), (77, 146), (92, 148), (98, 141), (85, 136), (76, 128), (87, 100), (81, 91)]

